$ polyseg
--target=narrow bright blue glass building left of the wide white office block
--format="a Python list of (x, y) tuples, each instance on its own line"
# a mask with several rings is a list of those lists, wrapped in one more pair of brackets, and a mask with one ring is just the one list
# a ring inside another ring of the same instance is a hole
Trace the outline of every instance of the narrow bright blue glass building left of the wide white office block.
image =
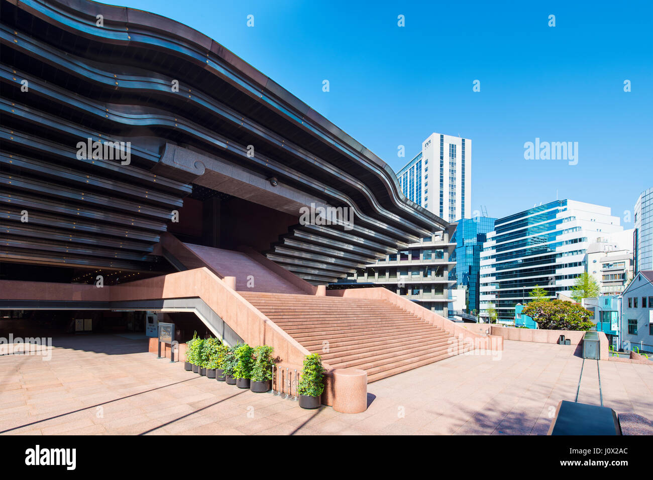
[(456, 266), (451, 269), (449, 278), (456, 280), (456, 285), (467, 287), (467, 312), (479, 312), (479, 265), (481, 250), (486, 234), (494, 230), (496, 218), (475, 217), (458, 220), (458, 226), (451, 237), (456, 248), (451, 256)]

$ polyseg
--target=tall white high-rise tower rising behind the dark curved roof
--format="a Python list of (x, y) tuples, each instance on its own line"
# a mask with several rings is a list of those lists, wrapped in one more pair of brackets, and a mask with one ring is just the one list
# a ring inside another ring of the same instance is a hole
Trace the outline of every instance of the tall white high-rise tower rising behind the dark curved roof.
[(471, 217), (471, 140), (434, 133), (398, 173), (404, 196), (444, 218)]

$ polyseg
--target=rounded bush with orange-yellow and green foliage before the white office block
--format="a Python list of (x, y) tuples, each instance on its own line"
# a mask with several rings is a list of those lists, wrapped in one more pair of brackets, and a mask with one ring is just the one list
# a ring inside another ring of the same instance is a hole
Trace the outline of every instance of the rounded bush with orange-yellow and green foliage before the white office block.
[(545, 330), (590, 330), (592, 312), (577, 303), (562, 300), (532, 301), (522, 315), (535, 320), (537, 328)]

